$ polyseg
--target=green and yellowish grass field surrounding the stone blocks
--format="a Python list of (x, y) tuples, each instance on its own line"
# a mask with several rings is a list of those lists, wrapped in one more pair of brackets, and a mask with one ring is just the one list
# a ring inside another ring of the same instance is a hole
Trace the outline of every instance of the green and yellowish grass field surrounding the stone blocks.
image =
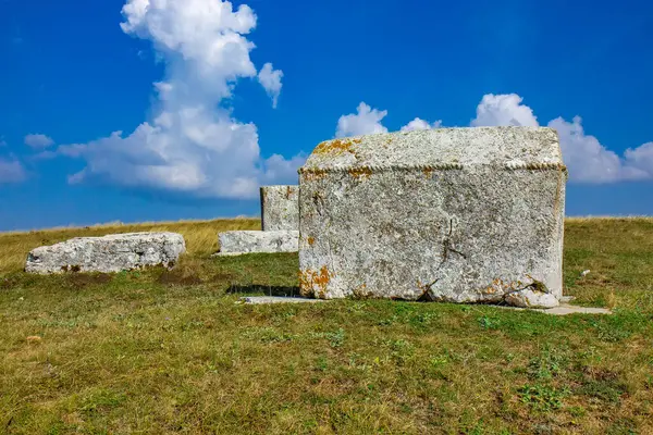
[[(296, 254), (211, 259), (254, 220), (0, 234), (0, 433), (653, 434), (653, 220), (568, 220), (565, 293), (611, 316), (294, 291)], [(29, 276), (29, 249), (167, 229), (173, 271)], [(584, 276), (580, 272), (590, 270)]]

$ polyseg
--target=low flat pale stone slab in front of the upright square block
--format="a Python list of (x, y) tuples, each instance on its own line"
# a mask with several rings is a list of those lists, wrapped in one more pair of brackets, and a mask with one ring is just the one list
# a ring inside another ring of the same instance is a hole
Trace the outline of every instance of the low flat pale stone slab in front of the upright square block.
[(298, 231), (231, 231), (220, 233), (218, 256), (251, 252), (297, 252)]

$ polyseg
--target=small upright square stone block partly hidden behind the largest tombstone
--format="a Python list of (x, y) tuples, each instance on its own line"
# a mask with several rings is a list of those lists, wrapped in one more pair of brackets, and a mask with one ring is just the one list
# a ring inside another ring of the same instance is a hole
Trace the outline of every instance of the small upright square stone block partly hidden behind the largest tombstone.
[(262, 186), (263, 231), (299, 229), (299, 186)]

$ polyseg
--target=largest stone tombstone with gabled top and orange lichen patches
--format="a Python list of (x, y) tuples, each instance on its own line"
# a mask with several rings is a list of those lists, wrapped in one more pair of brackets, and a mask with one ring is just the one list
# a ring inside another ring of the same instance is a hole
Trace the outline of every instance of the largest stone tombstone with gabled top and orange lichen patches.
[(441, 128), (320, 144), (299, 171), (305, 296), (562, 296), (557, 133)]

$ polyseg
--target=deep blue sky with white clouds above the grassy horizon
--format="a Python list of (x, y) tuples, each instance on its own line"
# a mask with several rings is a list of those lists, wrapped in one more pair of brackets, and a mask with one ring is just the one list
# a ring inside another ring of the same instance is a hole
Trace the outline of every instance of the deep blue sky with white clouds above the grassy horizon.
[(551, 125), (567, 214), (653, 214), (650, 2), (244, 3), (0, 0), (0, 231), (258, 214), (408, 125)]

